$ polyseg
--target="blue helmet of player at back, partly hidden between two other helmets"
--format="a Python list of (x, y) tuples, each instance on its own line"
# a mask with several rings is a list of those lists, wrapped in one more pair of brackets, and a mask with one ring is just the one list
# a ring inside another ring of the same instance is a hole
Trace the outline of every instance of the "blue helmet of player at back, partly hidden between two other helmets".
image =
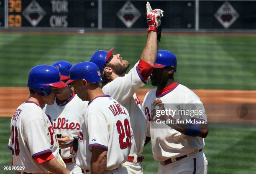
[(57, 61), (52, 66), (59, 69), (59, 72), (61, 73), (61, 80), (67, 80), (69, 79), (69, 70), (72, 67), (72, 64), (67, 61)]

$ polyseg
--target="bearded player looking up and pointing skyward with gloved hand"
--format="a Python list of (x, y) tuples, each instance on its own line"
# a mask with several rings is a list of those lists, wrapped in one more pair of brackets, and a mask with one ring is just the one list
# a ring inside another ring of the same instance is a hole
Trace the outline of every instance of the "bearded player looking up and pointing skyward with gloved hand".
[[(97, 64), (104, 80), (102, 91), (110, 95), (123, 105), (130, 115), (131, 127), (133, 129), (133, 141), (128, 161), (122, 166), (126, 173), (142, 174), (143, 146), (146, 138), (146, 117), (141, 109), (141, 103), (136, 95), (140, 86), (147, 83), (147, 79), (153, 71), (154, 62), (158, 48), (159, 34), (157, 28), (160, 26), (160, 17), (163, 16), (160, 9), (151, 9), (147, 2), (148, 39), (142, 52), (140, 61), (125, 74), (130, 66), (124, 61), (120, 54), (113, 55), (111, 50), (96, 51), (90, 61)], [(161, 32), (160, 32), (161, 34)]]

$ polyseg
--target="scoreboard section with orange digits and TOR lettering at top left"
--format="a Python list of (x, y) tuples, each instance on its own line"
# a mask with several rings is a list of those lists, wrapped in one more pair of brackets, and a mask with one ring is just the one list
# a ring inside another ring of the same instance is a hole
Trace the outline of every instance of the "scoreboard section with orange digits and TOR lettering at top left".
[(97, 28), (97, 25), (97, 0), (8, 0), (8, 28)]

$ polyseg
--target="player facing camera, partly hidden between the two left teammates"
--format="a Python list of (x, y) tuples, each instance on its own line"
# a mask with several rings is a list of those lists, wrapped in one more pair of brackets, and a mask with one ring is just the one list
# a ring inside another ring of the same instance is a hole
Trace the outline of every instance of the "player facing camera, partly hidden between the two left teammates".
[[(67, 82), (69, 80), (69, 70), (72, 67), (71, 63), (57, 61), (52, 66), (59, 69), (61, 81)], [(60, 155), (67, 169), (73, 171), (74, 174), (82, 174), (82, 171), (76, 164), (77, 155), (70, 154), (69, 148), (67, 148), (68, 146), (65, 143), (73, 139), (73, 136), (78, 136), (82, 113), (87, 107), (87, 103), (87, 101), (82, 101), (72, 91), (69, 85), (61, 89), (53, 105), (46, 105), (43, 109), (46, 115), (49, 116), (55, 133), (62, 135), (62, 138), (57, 138), (61, 149)]]

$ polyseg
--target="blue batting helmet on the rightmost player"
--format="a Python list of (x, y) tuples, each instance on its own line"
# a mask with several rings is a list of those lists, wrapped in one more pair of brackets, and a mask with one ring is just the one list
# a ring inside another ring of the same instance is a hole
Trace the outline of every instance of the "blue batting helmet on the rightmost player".
[(158, 50), (154, 68), (164, 68), (165, 66), (174, 66), (177, 70), (177, 59), (174, 53), (167, 50)]

